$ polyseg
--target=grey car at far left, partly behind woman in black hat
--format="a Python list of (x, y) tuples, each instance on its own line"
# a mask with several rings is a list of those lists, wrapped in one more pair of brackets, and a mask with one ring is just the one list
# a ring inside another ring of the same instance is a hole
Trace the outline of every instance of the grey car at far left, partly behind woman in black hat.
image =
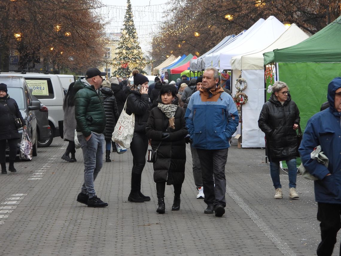
[[(0, 83), (7, 85), (8, 94), (15, 99), (18, 104), (21, 115), (26, 122), (26, 129), (29, 137), (32, 139), (33, 156), (38, 154), (38, 136), (37, 136), (37, 120), (35, 110), (40, 109), (40, 102), (32, 100), (30, 90), (26, 84), (26, 80), (20, 76), (0, 76)], [(23, 134), (23, 128), (19, 130), (20, 137)], [(18, 140), (18, 153), (21, 141)], [(6, 153), (9, 153), (9, 146), (6, 145)]]

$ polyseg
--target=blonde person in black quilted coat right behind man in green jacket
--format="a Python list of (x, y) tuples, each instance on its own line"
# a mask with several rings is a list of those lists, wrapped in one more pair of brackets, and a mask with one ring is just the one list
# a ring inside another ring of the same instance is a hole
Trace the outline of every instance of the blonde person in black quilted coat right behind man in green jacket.
[(119, 118), (114, 92), (110, 87), (111, 87), (110, 83), (104, 80), (102, 83), (102, 88), (100, 89), (103, 95), (104, 101), (103, 105), (106, 116), (106, 124), (104, 130), (106, 162), (111, 162), (110, 160), (111, 138), (113, 136), (113, 131)]

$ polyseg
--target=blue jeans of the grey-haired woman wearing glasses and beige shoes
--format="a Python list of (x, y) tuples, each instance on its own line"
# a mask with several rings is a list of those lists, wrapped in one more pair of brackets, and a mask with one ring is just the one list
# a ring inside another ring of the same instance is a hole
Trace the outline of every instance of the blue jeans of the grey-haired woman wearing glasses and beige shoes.
[[(295, 188), (297, 175), (296, 158), (286, 161), (286, 165), (288, 166), (289, 188)], [(275, 189), (282, 188), (279, 179), (279, 162), (270, 162), (270, 175)]]

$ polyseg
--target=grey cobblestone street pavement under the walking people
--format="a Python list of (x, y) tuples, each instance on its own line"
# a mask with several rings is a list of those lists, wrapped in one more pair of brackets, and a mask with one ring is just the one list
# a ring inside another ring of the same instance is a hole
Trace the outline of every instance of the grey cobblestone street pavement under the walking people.
[[(109, 207), (76, 202), (83, 157), (77, 150), (77, 162), (62, 160), (66, 145), (55, 138), (31, 162), (17, 161), (17, 173), (0, 176), (0, 255), (315, 255), (320, 228), (313, 182), (298, 175), (300, 198), (289, 200), (288, 176), (281, 172), (283, 199), (274, 199), (262, 149), (230, 148), (226, 213), (219, 218), (204, 214), (204, 201), (196, 199), (188, 146), (181, 209), (170, 210), (173, 186), (166, 186), (166, 213), (160, 215), (150, 163), (142, 191), (151, 201), (127, 201), (129, 150), (111, 153), (114, 161), (104, 162), (95, 182)], [(338, 252), (339, 242), (334, 255)]]

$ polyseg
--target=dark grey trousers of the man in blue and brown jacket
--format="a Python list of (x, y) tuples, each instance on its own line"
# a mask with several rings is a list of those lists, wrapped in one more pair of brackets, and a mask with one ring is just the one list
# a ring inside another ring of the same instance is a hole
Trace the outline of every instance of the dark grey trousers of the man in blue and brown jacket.
[[(201, 163), (204, 202), (216, 207), (218, 204), (226, 206), (226, 177), (225, 165), (227, 161), (228, 148), (221, 150), (203, 150), (197, 148)], [(214, 176), (214, 180), (213, 180)]]

